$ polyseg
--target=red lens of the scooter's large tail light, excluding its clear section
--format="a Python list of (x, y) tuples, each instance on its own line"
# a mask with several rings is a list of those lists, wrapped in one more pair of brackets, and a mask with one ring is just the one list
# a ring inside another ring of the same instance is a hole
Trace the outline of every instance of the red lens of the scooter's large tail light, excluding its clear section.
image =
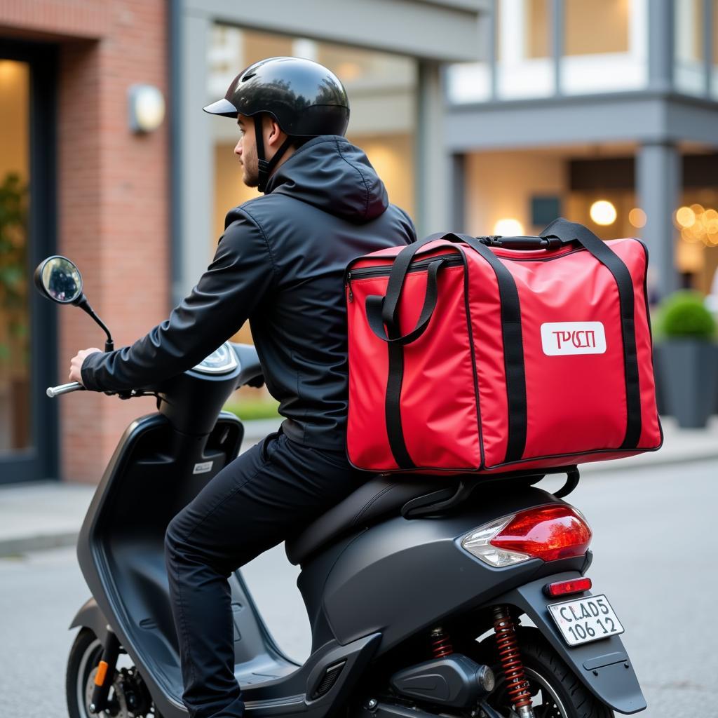
[(583, 556), (591, 529), (572, 506), (559, 503), (520, 511), (489, 543), (543, 561)]

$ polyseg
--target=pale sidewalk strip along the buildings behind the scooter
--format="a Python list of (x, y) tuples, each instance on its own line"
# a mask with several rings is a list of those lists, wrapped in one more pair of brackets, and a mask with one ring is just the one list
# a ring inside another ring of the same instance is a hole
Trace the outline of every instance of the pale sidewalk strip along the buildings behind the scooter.
[[(247, 422), (243, 449), (276, 430), (278, 423)], [(707, 459), (717, 460), (718, 469), (718, 416), (705, 430), (678, 429), (672, 419), (666, 418), (663, 431), (665, 442), (660, 451), (586, 464), (582, 475)], [(74, 545), (94, 493), (94, 486), (71, 482), (0, 486), (0, 556)]]

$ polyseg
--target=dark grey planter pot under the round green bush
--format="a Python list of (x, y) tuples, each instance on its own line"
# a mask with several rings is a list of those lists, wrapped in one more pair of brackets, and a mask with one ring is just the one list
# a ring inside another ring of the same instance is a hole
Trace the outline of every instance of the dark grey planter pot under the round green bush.
[(684, 429), (701, 429), (716, 411), (718, 345), (694, 339), (661, 342), (654, 356), (662, 403)]

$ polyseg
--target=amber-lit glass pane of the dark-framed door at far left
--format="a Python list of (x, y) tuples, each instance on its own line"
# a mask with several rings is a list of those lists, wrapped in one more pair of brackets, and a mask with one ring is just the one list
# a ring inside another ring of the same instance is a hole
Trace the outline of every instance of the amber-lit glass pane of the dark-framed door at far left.
[(29, 67), (0, 60), (0, 454), (32, 446), (27, 209)]

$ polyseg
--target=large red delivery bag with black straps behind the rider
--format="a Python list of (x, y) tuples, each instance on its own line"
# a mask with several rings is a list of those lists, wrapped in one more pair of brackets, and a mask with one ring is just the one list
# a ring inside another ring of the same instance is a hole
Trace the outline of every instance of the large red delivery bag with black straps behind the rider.
[(655, 451), (637, 239), (433, 235), (349, 266), (348, 457), (375, 472), (549, 470)]

